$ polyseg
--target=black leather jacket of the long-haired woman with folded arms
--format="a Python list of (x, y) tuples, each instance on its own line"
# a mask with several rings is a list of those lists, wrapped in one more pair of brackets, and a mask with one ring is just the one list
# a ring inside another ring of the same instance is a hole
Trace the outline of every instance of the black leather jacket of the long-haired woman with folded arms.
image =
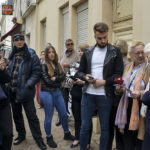
[(57, 88), (61, 87), (61, 82), (65, 79), (65, 73), (63, 72), (59, 75), (58, 67), (55, 68), (54, 77), (56, 77), (56, 81), (52, 81), (48, 74), (48, 68), (46, 64), (41, 65), (41, 91), (55, 91)]

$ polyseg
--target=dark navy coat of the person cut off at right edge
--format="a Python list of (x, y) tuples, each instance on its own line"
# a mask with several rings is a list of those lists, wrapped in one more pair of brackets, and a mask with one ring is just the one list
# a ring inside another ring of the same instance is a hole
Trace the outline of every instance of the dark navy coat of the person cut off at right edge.
[(142, 98), (143, 103), (147, 106), (146, 113), (146, 132), (150, 134), (150, 91), (147, 91)]

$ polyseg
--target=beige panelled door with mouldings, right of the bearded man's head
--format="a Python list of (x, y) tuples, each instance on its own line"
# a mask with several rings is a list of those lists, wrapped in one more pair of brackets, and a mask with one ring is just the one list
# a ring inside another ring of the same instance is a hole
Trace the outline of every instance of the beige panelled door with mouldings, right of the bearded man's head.
[(123, 39), (130, 44), (133, 39), (133, 1), (114, 0), (112, 15), (112, 42)]

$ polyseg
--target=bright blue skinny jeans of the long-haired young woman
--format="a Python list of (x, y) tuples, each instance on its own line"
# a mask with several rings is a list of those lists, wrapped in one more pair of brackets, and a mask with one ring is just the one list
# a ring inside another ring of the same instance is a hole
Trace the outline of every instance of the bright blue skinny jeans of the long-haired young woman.
[(41, 91), (40, 99), (45, 111), (44, 128), (47, 137), (51, 136), (51, 123), (54, 114), (54, 107), (56, 107), (60, 116), (64, 133), (69, 132), (66, 107), (60, 89), (58, 88), (57, 90), (52, 92)]

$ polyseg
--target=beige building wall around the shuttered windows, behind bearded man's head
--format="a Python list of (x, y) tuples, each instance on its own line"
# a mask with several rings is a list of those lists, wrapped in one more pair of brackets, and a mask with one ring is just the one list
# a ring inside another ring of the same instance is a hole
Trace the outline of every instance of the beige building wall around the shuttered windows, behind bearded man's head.
[[(36, 49), (41, 51), (42, 31), (40, 22), (46, 18), (46, 41), (54, 45), (59, 54), (62, 51), (62, 9), (69, 6), (69, 37), (76, 45), (76, 8), (88, 1), (88, 43), (95, 43), (93, 25), (104, 21), (110, 26), (109, 39), (112, 39), (112, 1), (111, 0), (43, 0), (37, 6)], [(49, 12), (48, 12), (49, 11)]]

